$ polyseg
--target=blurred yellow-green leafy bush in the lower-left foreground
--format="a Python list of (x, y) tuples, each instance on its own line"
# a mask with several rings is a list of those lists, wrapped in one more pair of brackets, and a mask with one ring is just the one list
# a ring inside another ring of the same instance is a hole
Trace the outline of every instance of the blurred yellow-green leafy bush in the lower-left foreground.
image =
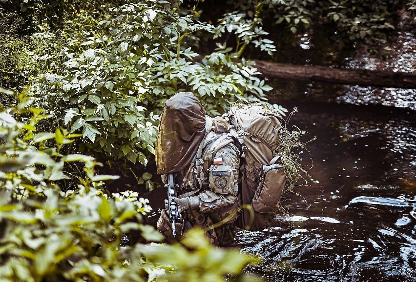
[[(17, 100), (0, 110), (1, 281), (253, 281), (241, 273), (253, 258), (214, 248), (202, 231), (182, 244), (145, 244), (162, 239), (141, 223), (148, 201), (108, 195), (103, 181), (117, 177), (96, 175), (92, 157), (60, 154), (76, 136), (39, 132), (50, 116), (24, 94)], [(74, 162), (84, 176), (62, 191), (64, 163)], [(122, 244), (128, 232), (138, 242)]]

